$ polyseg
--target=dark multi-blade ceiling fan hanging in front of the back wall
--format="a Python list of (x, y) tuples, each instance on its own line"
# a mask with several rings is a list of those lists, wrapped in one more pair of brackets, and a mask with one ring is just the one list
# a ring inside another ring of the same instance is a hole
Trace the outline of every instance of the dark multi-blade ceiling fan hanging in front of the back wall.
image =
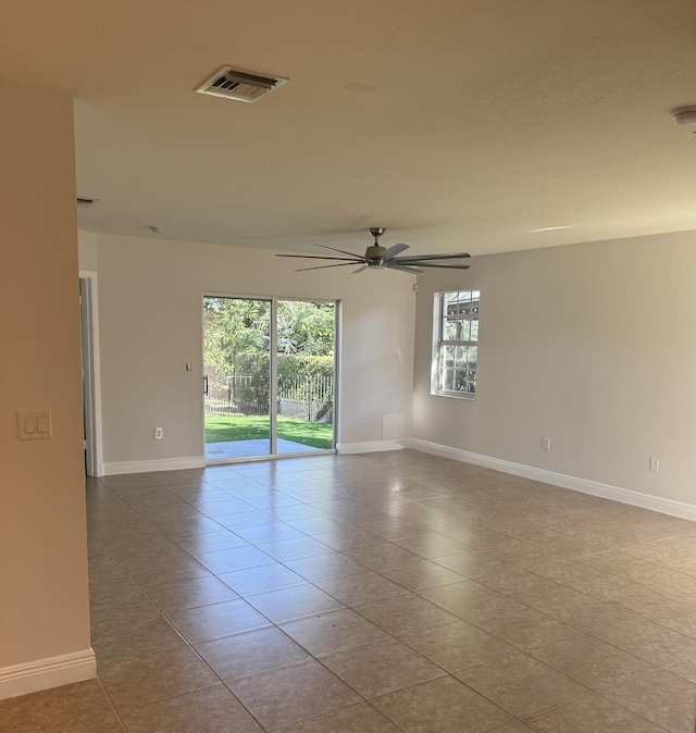
[(300, 268), (295, 272), (302, 272), (303, 270), (323, 270), (325, 268), (346, 268), (349, 265), (359, 264), (352, 274), (362, 272), (363, 270), (371, 270), (376, 268), (388, 268), (389, 270), (398, 270), (399, 272), (408, 272), (417, 275), (423, 272), (421, 268), (442, 268), (444, 270), (469, 270), (469, 264), (451, 264), (445, 262), (433, 262), (433, 260), (460, 260), (470, 257), (469, 252), (451, 252), (450, 254), (411, 254), (406, 257), (397, 257), (402, 251), (409, 248), (408, 245), (393, 245), (388, 249), (380, 244), (380, 237), (386, 232), (382, 226), (371, 226), (368, 232), (374, 237), (374, 244), (369, 246), (364, 256), (348, 252), (345, 249), (336, 249), (336, 247), (328, 247), (327, 245), (316, 245), (324, 249), (331, 249), (334, 252), (341, 252), (350, 257), (328, 257), (320, 254), (277, 254), (276, 257), (299, 257), (304, 260), (341, 260), (338, 264), (320, 264), (313, 268)]

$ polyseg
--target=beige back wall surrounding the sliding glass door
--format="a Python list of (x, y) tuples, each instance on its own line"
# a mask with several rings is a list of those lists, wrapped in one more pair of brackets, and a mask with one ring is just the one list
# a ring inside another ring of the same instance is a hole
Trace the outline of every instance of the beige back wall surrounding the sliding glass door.
[[(295, 273), (300, 261), (252, 248), (110, 235), (84, 241), (99, 273), (108, 470), (132, 461), (202, 459), (203, 294), (340, 299), (341, 446), (382, 440), (385, 414), (402, 414), (408, 430), (415, 308), (410, 276), (353, 276), (350, 268)], [(153, 439), (156, 426), (164, 428), (163, 440)]]

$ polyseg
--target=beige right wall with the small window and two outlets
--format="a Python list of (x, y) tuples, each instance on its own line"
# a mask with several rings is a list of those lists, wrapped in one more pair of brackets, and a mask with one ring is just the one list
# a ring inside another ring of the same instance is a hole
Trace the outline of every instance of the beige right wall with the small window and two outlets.
[[(696, 504), (694, 235), (480, 257), (463, 274), (419, 276), (413, 437)], [(430, 390), (433, 294), (459, 288), (482, 293), (475, 401)]]

